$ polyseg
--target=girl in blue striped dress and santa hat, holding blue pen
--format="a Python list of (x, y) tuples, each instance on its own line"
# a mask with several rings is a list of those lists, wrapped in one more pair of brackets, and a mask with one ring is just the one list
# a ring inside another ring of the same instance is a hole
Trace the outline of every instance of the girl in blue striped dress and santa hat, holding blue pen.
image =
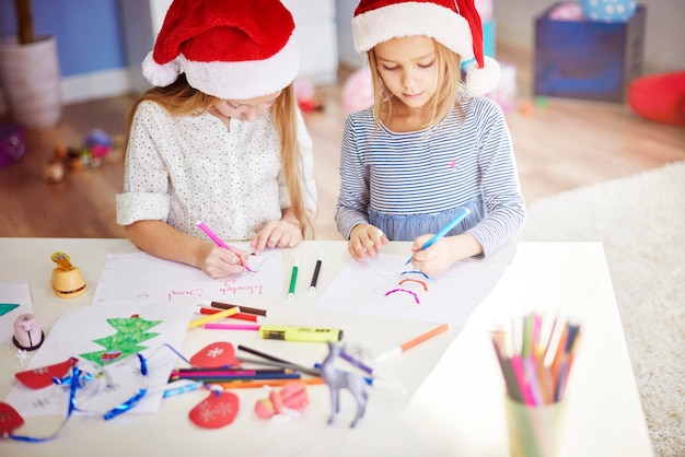
[[(336, 209), (355, 259), (388, 241), (414, 241), (414, 267), (438, 276), (491, 255), (523, 228), (509, 129), (499, 105), (480, 96), (499, 81), (481, 30), (473, 0), (357, 7), (352, 36), (368, 52), (374, 105), (345, 121)], [(462, 62), (472, 58), (462, 82)], [(460, 224), (421, 249), (464, 209)]]

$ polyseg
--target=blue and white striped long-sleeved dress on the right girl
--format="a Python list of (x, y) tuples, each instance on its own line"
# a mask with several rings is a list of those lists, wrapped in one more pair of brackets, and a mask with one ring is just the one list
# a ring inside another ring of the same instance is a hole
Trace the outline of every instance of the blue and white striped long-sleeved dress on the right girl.
[(448, 236), (468, 232), (488, 256), (525, 222), (507, 121), (485, 97), (463, 97), (438, 125), (411, 132), (376, 128), (373, 108), (350, 114), (340, 179), (335, 219), (346, 239), (355, 225), (370, 223), (391, 241), (413, 241), (468, 208)]

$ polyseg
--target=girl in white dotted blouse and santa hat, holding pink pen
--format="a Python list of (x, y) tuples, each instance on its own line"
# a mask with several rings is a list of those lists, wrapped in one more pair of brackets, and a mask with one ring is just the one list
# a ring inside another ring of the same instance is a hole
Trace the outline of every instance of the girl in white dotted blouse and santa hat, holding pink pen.
[(313, 237), (312, 141), (298, 109), (294, 22), (278, 0), (175, 0), (128, 120), (117, 222), (142, 250), (240, 273), (247, 251)]

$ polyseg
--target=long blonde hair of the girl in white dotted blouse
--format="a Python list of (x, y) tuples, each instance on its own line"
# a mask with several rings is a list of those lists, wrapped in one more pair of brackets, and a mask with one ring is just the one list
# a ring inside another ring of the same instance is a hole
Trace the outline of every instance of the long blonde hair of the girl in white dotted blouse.
[[(152, 87), (143, 93), (131, 107), (127, 120), (126, 131), (130, 132), (133, 117), (138, 105), (151, 101), (161, 105), (172, 116), (199, 116), (213, 108), (220, 98), (207, 95), (188, 84), (185, 74), (166, 87)], [(271, 106), (274, 120), (278, 134), (281, 139), (281, 162), (286, 187), (290, 195), (290, 206), (298, 222), (302, 225), (302, 234), (305, 239), (314, 238), (314, 224), (312, 215), (304, 208), (304, 196), (300, 183), (304, 180), (300, 148), (298, 143), (297, 98), (293, 84), (285, 87)], [(129, 136), (124, 143), (124, 153), (128, 148)]]

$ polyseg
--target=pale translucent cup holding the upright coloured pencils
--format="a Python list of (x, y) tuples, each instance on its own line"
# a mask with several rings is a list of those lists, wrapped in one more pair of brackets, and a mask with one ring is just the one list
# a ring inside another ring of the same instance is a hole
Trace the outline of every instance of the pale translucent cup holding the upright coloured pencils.
[(566, 400), (526, 405), (504, 399), (511, 457), (556, 457), (564, 438)]

